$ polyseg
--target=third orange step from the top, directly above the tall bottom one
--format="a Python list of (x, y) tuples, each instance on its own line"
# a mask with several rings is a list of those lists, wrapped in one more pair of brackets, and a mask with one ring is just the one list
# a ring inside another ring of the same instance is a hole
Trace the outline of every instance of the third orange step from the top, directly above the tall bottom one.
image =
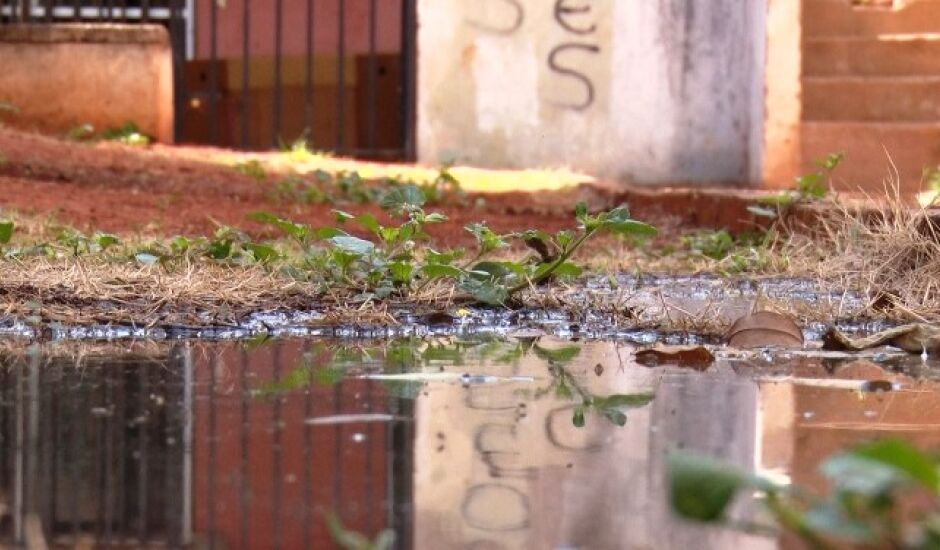
[(807, 77), (803, 120), (940, 122), (940, 76)]

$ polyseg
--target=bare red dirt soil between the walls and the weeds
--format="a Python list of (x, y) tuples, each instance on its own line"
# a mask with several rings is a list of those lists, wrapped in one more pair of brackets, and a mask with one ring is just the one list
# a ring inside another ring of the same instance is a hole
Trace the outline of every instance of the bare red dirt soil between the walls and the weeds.
[[(231, 166), (194, 160), (218, 153), (210, 148), (78, 143), (0, 127), (0, 207), (51, 217), (85, 231), (163, 236), (204, 235), (219, 224), (271, 235), (248, 219), (257, 211), (314, 226), (333, 223), (331, 211), (337, 207), (383, 218), (375, 205), (280, 201), (270, 189), (285, 174), (268, 174), (264, 183)], [(463, 226), (475, 221), (485, 221), (497, 232), (570, 228), (578, 200), (594, 209), (626, 201), (634, 217), (673, 230), (747, 227), (753, 220), (745, 208), (754, 196), (729, 190), (651, 192), (587, 185), (558, 192), (486, 194), (479, 207), (431, 208), (450, 217), (448, 223), (431, 228), (431, 234), (441, 245), (452, 246), (468, 243)], [(466, 202), (474, 204), (474, 198)]]

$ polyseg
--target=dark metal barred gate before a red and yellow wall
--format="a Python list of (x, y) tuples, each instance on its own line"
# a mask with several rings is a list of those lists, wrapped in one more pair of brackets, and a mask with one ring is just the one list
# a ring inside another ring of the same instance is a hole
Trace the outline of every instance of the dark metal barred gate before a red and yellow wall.
[(302, 139), (414, 156), (415, 0), (0, 0), (9, 22), (161, 23), (177, 141), (243, 149)]

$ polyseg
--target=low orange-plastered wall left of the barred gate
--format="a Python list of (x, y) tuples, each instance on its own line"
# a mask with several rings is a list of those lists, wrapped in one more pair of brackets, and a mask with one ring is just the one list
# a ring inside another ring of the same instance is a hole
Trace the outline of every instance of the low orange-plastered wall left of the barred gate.
[(0, 102), (18, 109), (4, 124), (65, 133), (80, 124), (133, 121), (173, 141), (173, 71), (157, 25), (0, 26)]

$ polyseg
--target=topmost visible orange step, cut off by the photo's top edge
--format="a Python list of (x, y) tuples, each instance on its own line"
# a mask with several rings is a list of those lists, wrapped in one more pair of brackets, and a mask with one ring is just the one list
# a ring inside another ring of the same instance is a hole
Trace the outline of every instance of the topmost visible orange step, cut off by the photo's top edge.
[(940, 32), (940, 0), (914, 0), (897, 10), (856, 8), (848, 0), (803, 0), (803, 36), (871, 36)]

